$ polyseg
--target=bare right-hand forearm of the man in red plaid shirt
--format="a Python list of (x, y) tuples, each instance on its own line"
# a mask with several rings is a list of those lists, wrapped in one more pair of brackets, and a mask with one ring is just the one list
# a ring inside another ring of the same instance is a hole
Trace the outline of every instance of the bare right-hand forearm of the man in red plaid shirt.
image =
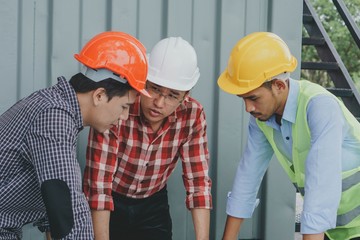
[(191, 209), (196, 240), (209, 240), (210, 210), (204, 208)]

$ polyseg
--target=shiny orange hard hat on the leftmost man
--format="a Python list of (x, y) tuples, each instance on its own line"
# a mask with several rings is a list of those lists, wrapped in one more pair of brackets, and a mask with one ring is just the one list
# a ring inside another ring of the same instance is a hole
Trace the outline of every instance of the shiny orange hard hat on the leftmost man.
[(107, 69), (126, 79), (144, 95), (148, 63), (144, 45), (124, 32), (103, 32), (90, 39), (74, 57), (88, 68)]

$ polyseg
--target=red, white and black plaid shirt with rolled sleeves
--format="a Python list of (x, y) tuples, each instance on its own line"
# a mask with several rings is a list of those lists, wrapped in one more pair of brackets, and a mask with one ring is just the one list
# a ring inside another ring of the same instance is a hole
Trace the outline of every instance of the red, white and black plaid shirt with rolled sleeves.
[(113, 210), (112, 191), (146, 198), (161, 190), (181, 158), (186, 207), (212, 208), (206, 120), (188, 97), (154, 133), (140, 113), (139, 98), (129, 119), (103, 134), (89, 133), (84, 192), (90, 208)]

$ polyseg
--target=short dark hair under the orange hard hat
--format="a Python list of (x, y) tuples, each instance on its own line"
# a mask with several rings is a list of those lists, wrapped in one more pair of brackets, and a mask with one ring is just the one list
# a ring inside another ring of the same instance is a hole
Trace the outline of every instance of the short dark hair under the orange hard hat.
[(87, 93), (98, 88), (104, 88), (109, 101), (115, 96), (125, 96), (133, 89), (129, 82), (122, 83), (112, 78), (95, 82), (82, 73), (72, 76), (69, 82), (77, 93)]

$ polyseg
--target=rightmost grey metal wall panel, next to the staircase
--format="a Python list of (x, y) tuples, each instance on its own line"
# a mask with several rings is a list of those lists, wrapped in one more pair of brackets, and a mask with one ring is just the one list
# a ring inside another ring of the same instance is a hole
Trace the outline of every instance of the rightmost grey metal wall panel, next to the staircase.
[[(289, 45), (292, 53), (301, 60), (302, 16), (298, 12), (287, 9), (298, 9), (302, 12), (302, 3), (297, 0), (272, 1), (269, 8), (269, 31), (277, 33)], [(281, 17), (278, 17), (281, 16)], [(292, 74), (295, 79), (300, 78), (300, 68)], [(270, 163), (264, 184), (265, 207), (263, 210), (264, 239), (293, 239), (295, 226), (295, 188), (276, 159)], [(285, 196), (279, 198), (279, 196)], [(286, 231), (284, 231), (286, 229)]]

